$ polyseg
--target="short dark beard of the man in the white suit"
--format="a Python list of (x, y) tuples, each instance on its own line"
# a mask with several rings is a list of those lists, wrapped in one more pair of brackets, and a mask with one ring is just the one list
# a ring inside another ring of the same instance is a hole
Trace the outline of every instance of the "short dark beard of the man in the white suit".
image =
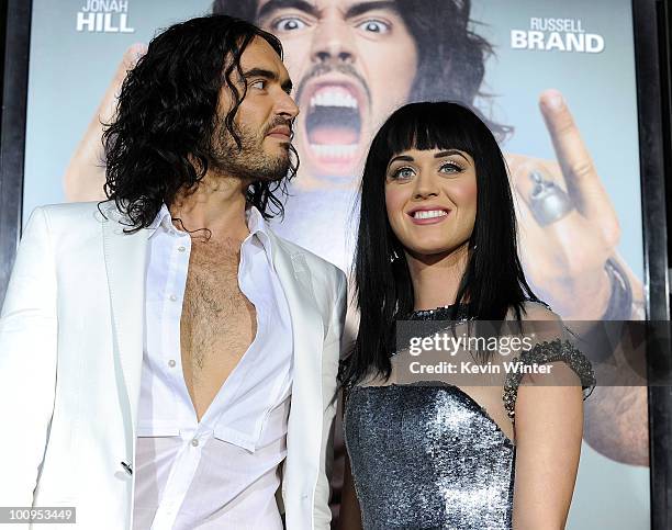
[(238, 148), (226, 124), (220, 121), (211, 140), (210, 166), (216, 171), (250, 182), (282, 180), (291, 166), (290, 149), (276, 156), (269, 155), (264, 150), (264, 139), (268, 131), (285, 123), (287, 120), (273, 122), (259, 132), (234, 124), (234, 132), (240, 140)]

